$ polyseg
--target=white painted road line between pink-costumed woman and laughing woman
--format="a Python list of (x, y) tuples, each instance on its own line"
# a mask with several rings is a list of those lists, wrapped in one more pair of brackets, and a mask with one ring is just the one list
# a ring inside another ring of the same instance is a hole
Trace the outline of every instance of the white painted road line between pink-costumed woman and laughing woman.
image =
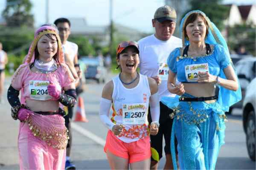
[(91, 133), (90, 131), (84, 129), (83, 127), (77, 125), (76, 123), (72, 122), (71, 128), (73, 128), (77, 132), (81, 133), (82, 135), (86, 136), (87, 138), (92, 139), (97, 144), (100, 144), (103, 147), (105, 146), (105, 140), (104, 139), (102, 139), (99, 136), (96, 136), (94, 133)]

